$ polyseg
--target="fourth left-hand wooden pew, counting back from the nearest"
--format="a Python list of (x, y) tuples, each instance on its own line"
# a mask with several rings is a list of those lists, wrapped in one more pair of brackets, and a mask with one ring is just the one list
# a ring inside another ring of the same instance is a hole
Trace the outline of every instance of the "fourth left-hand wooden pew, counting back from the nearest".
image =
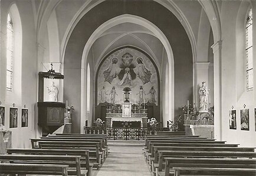
[[(38, 141), (40, 148), (59, 148), (59, 149), (78, 149), (85, 148), (94, 153), (90, 153), (89, 160), (94, 161), (94, 165), (102, 164), (101, 158), (103, 153), (99, 150), (99, 142), (88, 141)], [(92, 155), (93, 154), (93, 155)]]

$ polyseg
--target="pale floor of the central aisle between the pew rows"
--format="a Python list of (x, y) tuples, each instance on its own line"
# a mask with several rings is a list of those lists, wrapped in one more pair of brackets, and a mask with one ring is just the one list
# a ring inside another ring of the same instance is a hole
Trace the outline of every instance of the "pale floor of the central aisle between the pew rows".
[(152, 176), (143, 154), (143, 141), (108, 141), (109, 155), (93, 176)]

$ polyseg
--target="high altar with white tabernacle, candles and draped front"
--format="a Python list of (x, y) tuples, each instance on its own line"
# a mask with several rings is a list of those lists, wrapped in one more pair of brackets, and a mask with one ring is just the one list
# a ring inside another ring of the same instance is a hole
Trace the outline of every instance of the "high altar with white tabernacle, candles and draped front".
[(114, 127), (114, 121), (123, 122), (124, 126), (129, 122), (140, 122), (140, 127), (147, 127), (147, 109), (145, 103), (143, 105), (132, 104), (129, 101), (128, 92), (124, 92), (125, 100), (122, 104), (113, 104), (111, 109), (107, 109), (106, 113), (106, 127)]

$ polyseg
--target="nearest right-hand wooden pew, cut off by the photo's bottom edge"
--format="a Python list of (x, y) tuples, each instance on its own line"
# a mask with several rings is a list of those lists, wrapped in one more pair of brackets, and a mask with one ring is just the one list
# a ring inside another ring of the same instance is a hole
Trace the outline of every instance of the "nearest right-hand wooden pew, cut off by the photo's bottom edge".
[[(196, 168), (196, 167), (173, 167), (175, 176), (185, 175), (246, 175), (255, 176), (255, 168)], [(192, 173), (192, 174), (190, 174)]]

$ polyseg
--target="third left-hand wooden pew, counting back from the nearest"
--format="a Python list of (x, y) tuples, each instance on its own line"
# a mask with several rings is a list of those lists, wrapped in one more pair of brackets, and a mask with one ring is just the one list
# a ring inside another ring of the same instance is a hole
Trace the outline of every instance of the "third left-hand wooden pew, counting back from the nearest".
[(91, 170), (93, 164), (90, 164), (89, 150), (71, 150), (71, 149), (40, 149), (40, 148), (7, 148), (7, 153), (9, 155), (14, 154), (26, 154), (26, 155), (78, 155), (80, 158), (80, 165), (83, 168), (86, 168), (87, 176), (91, 175)]

